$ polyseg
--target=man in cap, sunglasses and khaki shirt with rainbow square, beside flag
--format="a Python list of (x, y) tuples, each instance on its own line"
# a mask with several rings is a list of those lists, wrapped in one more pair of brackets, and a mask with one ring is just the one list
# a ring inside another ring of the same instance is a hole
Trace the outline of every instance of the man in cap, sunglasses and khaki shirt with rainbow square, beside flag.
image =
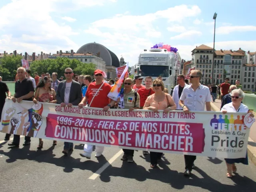
[[(140, 95), (132, 89), (131, 78), (126, 78), (124, 80), (124, 109), (129, 109), (130, 111), (134, 109), (140, 109)], [(132, 163), (134, 150), (132, 149), (123, 149), (124, 155), (121, 160), (127, 160), (127, 162)]]

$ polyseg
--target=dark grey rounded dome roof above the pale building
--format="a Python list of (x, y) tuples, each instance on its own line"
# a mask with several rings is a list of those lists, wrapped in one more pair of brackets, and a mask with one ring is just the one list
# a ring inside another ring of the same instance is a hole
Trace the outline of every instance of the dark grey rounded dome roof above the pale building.
[(100, 57), (106, 62), (106, 66), (120, 67), (120, 63), (116, 54), (108, 48), (98, 43), (88, 43), (81, 46), (76, 53), (100, 52)]

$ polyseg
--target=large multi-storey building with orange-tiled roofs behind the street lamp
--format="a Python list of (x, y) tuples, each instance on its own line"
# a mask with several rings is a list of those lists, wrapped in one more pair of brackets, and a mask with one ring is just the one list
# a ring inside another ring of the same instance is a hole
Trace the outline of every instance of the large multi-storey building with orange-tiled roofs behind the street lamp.
[[(235, 84), (236, 80), (240, 80), (242, 84), (242, 67), (246, 63), (245, 51), (239, 48), (237, 51), (232, 50), (216, 50), (214, 51), (214, 82), (220, 84), (224, 82), (224, 78), (228, 77), (231, 84)], [(192, 50), (191, 68), (201, 70), (204, 73), (201, 83), (211, 83), (213, 60), (213, 48), (204, 44), (196, 46)]]

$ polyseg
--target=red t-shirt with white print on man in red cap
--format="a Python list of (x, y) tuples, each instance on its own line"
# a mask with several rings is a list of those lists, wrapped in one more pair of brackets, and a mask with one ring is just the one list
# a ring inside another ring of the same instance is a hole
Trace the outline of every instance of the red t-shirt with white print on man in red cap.
[[(108, 98), (108, 93), (110, 92), (112, 87), (110, 86), (110, 84), (105, 82), (100, 88), (101, 85), (102, 84), (96, 85), (96, 82), (92, 82), (88, 86), (85, 96), (86, 98), (88, 98), (88, 104), (90, 105), (90, 107), (104, 108), (109, 104), (110, 99)], [(93, 96), (95, 95), (95, 93), (99, 88), (100, 90), (92, 100)]]

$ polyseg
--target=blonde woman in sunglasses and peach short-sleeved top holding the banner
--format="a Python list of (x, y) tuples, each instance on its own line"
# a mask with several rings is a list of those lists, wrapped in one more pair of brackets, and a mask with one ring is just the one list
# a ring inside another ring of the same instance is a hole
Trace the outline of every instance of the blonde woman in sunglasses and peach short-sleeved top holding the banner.
[[(156, 79), (153, 81), (154, 94), (148, 96), (143, 109), (152, 110), (158, 112), (158, 110), (164, 110), (169, 112), (170, 110), (176, 110), (176, 105), (170, 94), (164, 93), (164, 83)], [(150, 167), (155, 168), (157, 161), (161, 159), (163, 153), (150, 152)]]

